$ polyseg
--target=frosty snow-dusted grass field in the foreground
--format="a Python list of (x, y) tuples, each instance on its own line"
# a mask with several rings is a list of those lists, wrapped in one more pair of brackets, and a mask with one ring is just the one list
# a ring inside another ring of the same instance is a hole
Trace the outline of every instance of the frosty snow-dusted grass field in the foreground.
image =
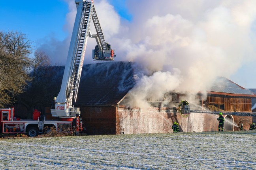
[(256, 169), (256, 131), (0, 140), (0, 169)]

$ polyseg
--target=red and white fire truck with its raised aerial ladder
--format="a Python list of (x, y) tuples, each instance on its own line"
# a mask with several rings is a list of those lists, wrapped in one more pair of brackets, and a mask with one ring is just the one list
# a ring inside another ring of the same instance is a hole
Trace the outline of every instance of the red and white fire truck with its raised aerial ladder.
[[(65, 65), (62, 85), (58, 96), (54, 98), (55, 108), (51, 109), (53, 117), (59, 120), (45, 120), (40, 112), (35, 110), (33, 120), (19, 120), (14, 115), (14, 108), (0, 109), (0, 130), (2, 134), (26, 134), (36, 137), (47, 133), (44, 127), (54, 127), (56, 131), (76, 127), (77, 135), (83, 130), (79, 108), (72, 104), (77, 99), (81, 71), (85, 57), (88, 37), (95, 38), (97, 45), (92, 50), (92, 59), (96, 61), (113, 61), (115, 53), (105, 38), (96, 14), (93, 0), (75, 0), (77, 14), (70, 41), (68, 57)], [(91, 20), (96, 34), (90, 31)]]

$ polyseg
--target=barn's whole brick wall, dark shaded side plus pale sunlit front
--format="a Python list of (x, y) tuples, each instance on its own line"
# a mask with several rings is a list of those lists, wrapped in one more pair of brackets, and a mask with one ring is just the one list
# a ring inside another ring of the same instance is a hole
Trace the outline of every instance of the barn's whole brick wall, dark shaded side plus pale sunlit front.
[[(172, 133), (171, 126), (174, 121), (179, 123), (181, 132), (218, 131), (218, 115), (207, 113), (190, 113), (184, 117), (180, 113), (171, 113), (164, 109), (159, 112), (158, 108), (140, 111), (111, 106), (83, 106), (80, 111), (85, 133), (88, 135)], [(235, 122), (235, 116), (232, 117)], [(244, 129), (249, 129), (252, 117), (247, 119)], [(235, 126), (233, 129), (239, 130)]]

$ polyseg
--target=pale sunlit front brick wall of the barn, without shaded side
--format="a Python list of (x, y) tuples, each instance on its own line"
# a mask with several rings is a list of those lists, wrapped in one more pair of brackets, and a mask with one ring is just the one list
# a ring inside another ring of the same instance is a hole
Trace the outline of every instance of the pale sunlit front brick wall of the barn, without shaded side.
[[(136, 133), (172, 133), (173, 122), (179, 123), (181, 132), (218, 131), (218, 115), (209, 113), (190, 113), (187, 117), (180, 113), (162, 110), (139, 111), (119, 109), (120, 132)], [(224, 115), (225, 116), (225, 115)], [(234, 120), (235, 121), (235, 120)], [(233, 126), (234, 130), (235, 126)], [(247, 128), (247, 125), (244, 125)]]

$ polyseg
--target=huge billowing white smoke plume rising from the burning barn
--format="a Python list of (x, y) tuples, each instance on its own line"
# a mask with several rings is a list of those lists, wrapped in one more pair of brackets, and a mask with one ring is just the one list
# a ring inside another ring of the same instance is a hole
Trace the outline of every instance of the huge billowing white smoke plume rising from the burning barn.
[[(64, 27), (71, 32), (76, 9), (73, 0), (66, 1), (70, 13)], [(130, 21), (109, 2), (94, 0), (105, 39), (116, 50), (115, 60), (134, 61), (143, 68), (137, 68), (130, 106), (143, 107), (147, 98), (169, 91), (196, 94), (216, 76), (229, 78), (255, 61), (254, 0), (126, 0)], [(69, 44), (62, 43), (62, 49), (68, 49)], [(88, 40), (85, 63), (92, 62), (95, 45), (94, 39)]]

